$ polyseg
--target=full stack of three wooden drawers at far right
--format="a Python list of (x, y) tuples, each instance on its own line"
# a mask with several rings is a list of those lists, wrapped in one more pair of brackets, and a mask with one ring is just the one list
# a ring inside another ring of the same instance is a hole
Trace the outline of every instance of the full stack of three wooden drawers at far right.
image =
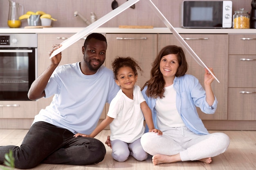
[(256, 35), (229, 35), (228, 120), (256, 120)]

